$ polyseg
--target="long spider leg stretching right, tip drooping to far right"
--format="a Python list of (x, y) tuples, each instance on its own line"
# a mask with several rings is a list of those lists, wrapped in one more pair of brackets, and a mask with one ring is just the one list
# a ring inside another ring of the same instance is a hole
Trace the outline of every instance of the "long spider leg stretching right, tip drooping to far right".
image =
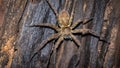
[(109, 42), (107, 42), (106, 40), (104, 40), (102, 37), (100, 37), (100, 35), (97, 34), (95, 31), (90, 30), (90, 29), (85, 29), (85, 28), (84, 28), (84, 29), (75, 29), (75, 30), (72, 31), (72, 33), (81, 33), (82, 35), (90, 34), (90, 35), (98, 38), (100, 41), (109, 43)]

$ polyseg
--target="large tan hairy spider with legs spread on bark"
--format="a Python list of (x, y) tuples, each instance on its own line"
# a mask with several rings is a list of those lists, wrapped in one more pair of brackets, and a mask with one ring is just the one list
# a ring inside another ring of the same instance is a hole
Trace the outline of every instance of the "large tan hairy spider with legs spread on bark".
[[(46, 0), (47, 4), (49, 5), (49, 7), (52, 9), (53, 13), (55, 14), (57, 21), (58, 21), (58, 25), (53, 25), (53, 24), (49, 24), (49, 23), (41, 23), (39, 25), (30, 25), (30, 27), (49, 27), (52, 28), (56, 31), (55, 34), (52, 34), (50, 37), (48, 37), (46, 40), (43, 40), (42, 43), (40, 44), (40, 46), (38, 48), (35, 49), (34, 51), (34, 55), (41, 50), (48, 42), (50, 42), (51, 40), (57, 39), (57, 42), (55, 43), (55, 46), (53, 48), (54, 53), (56, 54), (56, 50), (59, 47), (60, 43), (65, 40), (65, 39), (69, 39), (72, 40), (76, 43), (77, 47), (81, 46), (80, 41), (77, 39), (77, 37), (75, 37), (75, 34), (91, 34), (97, 38), (99, 38), (99, 40), (102, 40), (100, 38), (100, 36), (93, 30), (87, 29), (87, 28), (82, 28), (82, 29), (75, 29), (79, 24), (86, 24), (89, 21), (92, 20), (91, 19), (78, 19), (77, 21), (75, 21), (73, 24), (73, 17), (74, 17), (74, 8), (75, 8), (75, 3), (77, 0), (74, 0), (73, 3), (73, 7), (72, 7), (72, 11), (71, 14), (68, 13), (68, 11), (66, 11), (66, 6), (68, 4), (69, 0), (66, 0), (64, 8), (58, 13), (55, 8), (51, 5), (51, 3)], [(32, 56), (33, 58), (33, 56)]]

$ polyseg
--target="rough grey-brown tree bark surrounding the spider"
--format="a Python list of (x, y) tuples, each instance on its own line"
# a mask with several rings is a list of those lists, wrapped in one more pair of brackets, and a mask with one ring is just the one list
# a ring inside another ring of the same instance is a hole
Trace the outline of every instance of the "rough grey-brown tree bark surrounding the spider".
[[(65, 0), (49, 1), (58, 12), (65, 4)], [(74, 1), (69, 0), (66, 10), (69, 13)], [(81, 48), (71, 40), (64, 40), (57, 50), (58, 68), (120, 67), (119, 6), (119, 0), (77, 0), (73, 22), (93, 18), (77, 28), (94, 30), (110, 44), (91, 35), (76, 35)], [(40, 43), (55, 33), (48, 28), (28, 27), (40, 23), (58, 24), (45, 0), (0, 0), (0, 68), (54, 68), (51, 50), (56, 41), (47, 43), (30, 61)]]

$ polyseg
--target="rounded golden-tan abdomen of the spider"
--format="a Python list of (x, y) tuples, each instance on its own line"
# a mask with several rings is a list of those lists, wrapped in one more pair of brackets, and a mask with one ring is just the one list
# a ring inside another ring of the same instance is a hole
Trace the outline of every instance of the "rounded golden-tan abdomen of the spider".
[(67, 27), (70, 25), (69, 23), (69, 13), (65, 10), (62, 10), (58, 15), (58, 23), (60, 27)]

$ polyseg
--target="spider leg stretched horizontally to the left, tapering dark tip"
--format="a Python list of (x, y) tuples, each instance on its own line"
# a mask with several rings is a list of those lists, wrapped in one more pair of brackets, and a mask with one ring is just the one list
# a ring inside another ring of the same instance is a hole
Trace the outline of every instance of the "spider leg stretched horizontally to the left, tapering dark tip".
[(54, 30), (56, 30), (57, 32), (59, 31), (59, 27), (55, 26), (55, 25), (52, 25), (52, 24), (49, 24), (49, 23), (41, 23), (41, 24), (38, 24), (38, 25), (30, 25), (29, 27), (48, 27), (48, 28), (52, 28)]

